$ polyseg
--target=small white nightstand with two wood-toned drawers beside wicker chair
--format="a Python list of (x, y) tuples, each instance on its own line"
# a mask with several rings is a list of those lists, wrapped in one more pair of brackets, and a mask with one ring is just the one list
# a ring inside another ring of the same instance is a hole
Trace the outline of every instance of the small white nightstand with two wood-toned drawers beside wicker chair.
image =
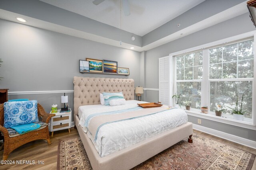
[[(52, 111), (50, 113), (52, 113)], [(57, 113), (54, 113), (55, 116), (51, 117), (51, 121), (50, 121), (50, 124), (51, 124), (50, 131), (52, 132), (52, 136), (54, 131), (59, 131), (62, 129), (68, 129), (70, 133), (71, 113), (72, 113), (71, 109), (69, 112), (63, 112), (63, 113), (60, 113), (60, 109), (58, 109)]]

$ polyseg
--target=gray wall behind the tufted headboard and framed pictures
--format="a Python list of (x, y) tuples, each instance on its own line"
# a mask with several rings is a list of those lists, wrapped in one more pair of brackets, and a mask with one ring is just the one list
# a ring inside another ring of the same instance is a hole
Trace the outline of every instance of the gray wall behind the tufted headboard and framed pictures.
[[(0, 20), (0, 88), (10, 92), (73, 90), (73, 77), (133, 78), (140, 84), (140, 53), (20, 23)], [(79, 73), (79, 59), (107, 59), (130, 68), (130, 76)], [(10, 99), (36, 99), (47, 112), (60, 108), (63, 94), (9, 95)], [(73, 107), (74, 96), (68, 94)]]

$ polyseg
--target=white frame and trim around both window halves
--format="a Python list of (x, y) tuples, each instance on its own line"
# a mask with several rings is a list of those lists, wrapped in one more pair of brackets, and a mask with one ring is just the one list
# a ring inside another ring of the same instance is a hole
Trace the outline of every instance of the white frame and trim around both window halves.
[[(244, 127), (244, 128), (247, 128), (247, 129), (253, 129), (253, 130), (256, 130), (256, 31), (250, 31), (248, 33), (243, 33), (243, 34), (240, 34), (240, 35), (236, 35), (236, 36), (233, 36), (233, 37), (229, 37), (229, 38), (226, 38), (226, 39), (221, 39), (221, 40), (218, 40), (218, 41), (214, 41), (212, 43), (207, 43), (207, 44), (204, 44), (204, 45), (199, 45), (197, 47), (192, 47), (190, 49), (185, 49), (185, 50), (182, 50), (182, 51), (178, 51), (178, 52), (175, 52), (175, 53), (170, 53), (169, 56), (171, 59), (173, 59), (173, 64), (171, 65), (171, 67), (174, 68), (174, 76), (172, 76), (172, 79), (171, 79), (171, 82), (173, 82), (173, 86), (171, 87), (173, 90), (173, 94), (176, 92), (177, 90), (177, 87), (176, 87), (176, 83), (174, 79), (176, 79), (176, 57), (174, 56), (177, 56), (177, 55), (182, 55), (182, 54), (186, 54), (186, 53), (193, 53), (194, 51), (198, 51), (198, 50), (202, 50), (203, 51), (203, 80), (202, 80), (202, 84), (201, 84), (201, 92), (202, 92), (202, 96), (201, 98), (203, 99), (206, 99), (206, 100), (201, 100), (201, 106), (208, 106), (209, 102), (210, 102), (210, 86), (209, 86), (209, 83), (210, 81), (212, 80), (209, 80), (209, 49), (206, 49), (204, 50), (205, 48), (210, 48), (210, 47), (214, 47), (214, 46), (217, 46), (217, 45), (222, 45), (224, 46), (225, 43), (227, 42), (232, 42), (232, 41), (238, 41), (239, 39), (245, 39), (245, 38), (248, 38), (248, 37), (254, 37), (254, 44), (253, 44), (253, 50), (254, 50), (254, 78), (243, 78), (242, 80), (243, 81), (246, 81), (247, 79), (248, 80), (252, 80), (253, 79), (253, 84), (252, 84), (252, 121), (246, 121), (247, 119), (244, 118), (244, 121), (237, 121), (235, 119), (232, 118), (232, 115), (230, 116), (226, 116), (225, 117), (219, 117), (219, 116), (216, 116), (215, 114), (204, 114), (204, 113), (201, 113), (199, 111), (199, 109), (191, 109), (190, 111), (187, 111), (186, 110), (186, 113), (188, 115), (191, 115), (191, 116), (195, 116), (195, 117), (200, 117), (200, 118), (203, 118), (203, 119), (209, 119), (209, 120), (212, 120), (212, 121), (218, 121), (218, 122), (221, 122), (221, 123), (226, 123), (226, 124), (229, 124), (229, 125), (235, 125), (235, 126), (239, 126), (239, 127)], [(208, 70), (205, 70), (205, 69), (208, 69)], [(206, 78), (205, 78), (206, 77)], [(221, 81), (230, 81), (232, 79), (223, 79)], [(194, 80), (189, 80), (190, 82), (191, 81), (194, 81)], [(198, 80), (195, 80), (198, 82)], [(220, 80), (219, 80), (220, 81)], [(236, 81), (239, 81), (239, 79), (236, 79)], [(209, 108), (209, 106), (208, 106)], [(214, 112), (212, 112), (214, 113)]]

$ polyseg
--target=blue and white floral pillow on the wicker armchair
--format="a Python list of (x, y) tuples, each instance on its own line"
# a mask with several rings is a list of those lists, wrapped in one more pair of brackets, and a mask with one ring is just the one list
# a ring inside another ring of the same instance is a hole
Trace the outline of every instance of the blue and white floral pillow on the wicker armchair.
[(4, 103), (4, 127), (38, 121), (37, 100), (5, 102)]

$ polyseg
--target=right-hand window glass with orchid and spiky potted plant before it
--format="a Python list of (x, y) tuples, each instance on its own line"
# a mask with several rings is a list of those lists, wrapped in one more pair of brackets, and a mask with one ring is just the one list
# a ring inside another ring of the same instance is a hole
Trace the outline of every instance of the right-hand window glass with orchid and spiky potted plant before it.
[(221, 104), (222, 113), (231, 115), (229, 107), (235, 107), (236, 93), (239, 105), (244, 94), (244, 117), (252, 119), (252, 44), (251, 40), (209, 50), (210, 111)]

